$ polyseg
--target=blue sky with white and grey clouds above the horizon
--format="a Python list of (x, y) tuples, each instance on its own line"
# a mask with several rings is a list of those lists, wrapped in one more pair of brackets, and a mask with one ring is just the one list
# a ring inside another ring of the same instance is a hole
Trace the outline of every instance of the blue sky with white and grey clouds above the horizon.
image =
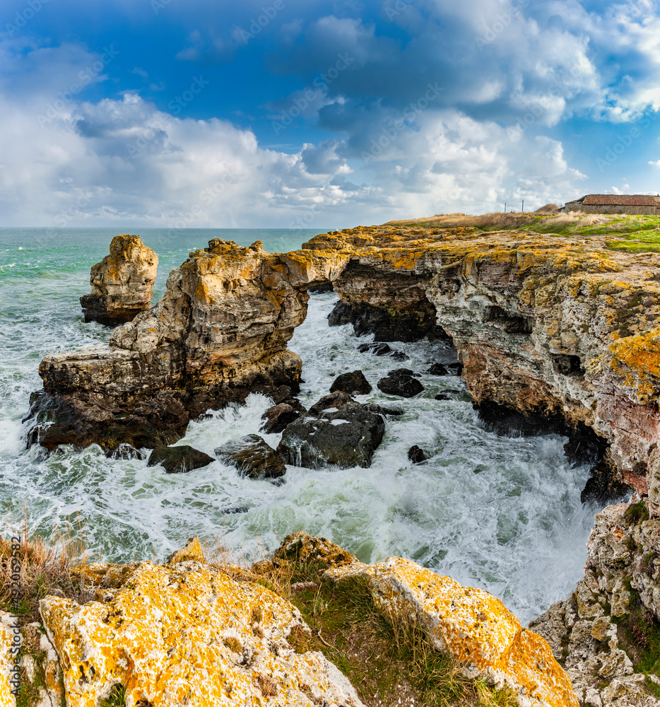
[(346, 228), (660, 192), (653, 0), (4, 0), (0, 226)]

